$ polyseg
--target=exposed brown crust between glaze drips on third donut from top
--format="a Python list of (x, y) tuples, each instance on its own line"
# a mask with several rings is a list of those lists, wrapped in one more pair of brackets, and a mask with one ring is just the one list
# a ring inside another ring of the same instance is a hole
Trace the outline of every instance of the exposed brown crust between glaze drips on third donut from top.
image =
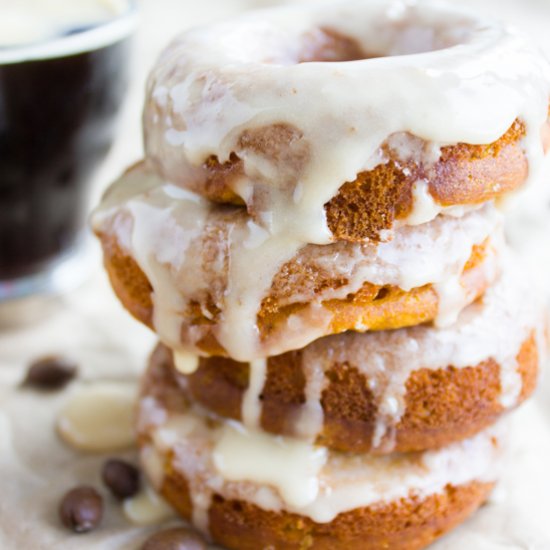
[[(261, 427), (274, 434), (292, 435), (293, 422), (305, 403), (306, 379), (302, 351), (292, 351), (267, 361), (261, 392)], [(518, 356), (522, 391), (518, 403), (533, 392), (538, 374), (535, 334), (523, 343)], [(223, 357), (201, 358), (199, 368), (184, 376), (176, 371), (172, 353), (159, 345), (150, 361), (155, 378), (179, 387), (186, 380), (190, 395), (215, 414), (241, 420), (249, 365)], [(335, 363), (327, 371), (321, 396), (324, 413), (317, 443), (338, 451), (365, 453), (371, 448), (377, 404), (368, 378), (349, 363)], [(395, 431), (393, 451), (423, 451), (474, 436), (493, 424), (506, 409), (500, 403), (500, 366), (493, 359), (464, 368), (414, 371), (406, 383), (405, 412)], [(187, 397), (174, 391), (171, 402), (183, 406)], [(374, 452), (389, 452), (375, 449)]]

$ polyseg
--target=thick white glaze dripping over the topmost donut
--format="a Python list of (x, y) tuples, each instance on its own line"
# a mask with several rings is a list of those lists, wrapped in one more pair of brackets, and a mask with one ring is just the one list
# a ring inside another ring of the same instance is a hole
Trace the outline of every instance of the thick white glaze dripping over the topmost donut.
[[(300, 50), (320, 29), (381, 57), (300, 63)], [(326, 244), (324, 204), (344, 182), (386, 161), (380, 147), (388, 138), (401, 158), (429, 173), (441, 146), (491, 143), (519, 118), (534, 174), (549, 94), (549, 66), (525, 37), (458, 7), (293, 5), (178, 37), (149, 80), (145, 146), (166, 176), (193, 189), (209, 156), (223, 163), (236, 153), (245, 175), (232, 187), (255, 221), (301, 243)], [(243, 135), (281, 124), (295, 137), (278, 143), (277, 153), (243, 145)], [(415, 203), (411, 223), (442, 210)]]

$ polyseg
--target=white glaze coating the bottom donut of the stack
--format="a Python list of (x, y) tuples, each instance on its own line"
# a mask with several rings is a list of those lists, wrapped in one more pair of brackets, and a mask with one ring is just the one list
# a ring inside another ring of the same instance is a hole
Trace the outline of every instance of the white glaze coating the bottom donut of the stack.
[[(142, 423), (148, 424), (146, 419)], [(348, 510), (409, 495), (427, 497), (448, 485), (494, 481), (502, 431), (499, 423), (439, 450), (384, 457), (330, 452), (246, 430), (232, 421), (213, 422), (200, 410), (168, 411), (166, 423), (149, 424), (146, 435), (171, 461), (171, 468), (189, 481), (195, 506), (208, 507), (212, 496), (220, 494), (325, 523)], [(207, 517), (207, 511), (194, 509), (193, 515)]]

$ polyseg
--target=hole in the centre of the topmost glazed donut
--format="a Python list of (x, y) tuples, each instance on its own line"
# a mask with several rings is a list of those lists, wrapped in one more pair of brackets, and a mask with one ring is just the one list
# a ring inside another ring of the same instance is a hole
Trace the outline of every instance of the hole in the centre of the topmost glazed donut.
[[(479, 23), (463, 14), (386, 0), (281, 8), (221, 28), (211, 51), (229, 64), (292, 66), (434, 52), (471, 41)], [(220, 49), (220, 46), (223, 49)]]

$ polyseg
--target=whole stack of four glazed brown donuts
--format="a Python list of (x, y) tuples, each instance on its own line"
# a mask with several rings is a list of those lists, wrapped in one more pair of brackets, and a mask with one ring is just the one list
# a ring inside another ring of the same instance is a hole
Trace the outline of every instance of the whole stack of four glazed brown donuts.
[(155, 488), (231, 549), (416, 549), (490, 494), (544, 348), (499, 203), (536, 180), (550, 69), (455, 7), (343, 0), (188, 31), (146, 156), (93, 216), (160, 343)]

